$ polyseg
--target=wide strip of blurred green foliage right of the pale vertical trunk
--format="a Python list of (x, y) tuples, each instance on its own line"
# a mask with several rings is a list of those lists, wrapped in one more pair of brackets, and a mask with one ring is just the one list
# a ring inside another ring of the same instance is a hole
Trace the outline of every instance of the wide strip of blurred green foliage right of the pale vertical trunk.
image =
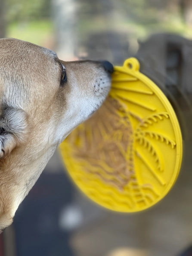
[[(182, 0), (77, 0), (77, 2), (81, 2), (78, 23), (78, 31), (81, 31), (81, 34), (116, 29), (129, 33), (135, 38), (147, 37), (158, 32), (192, 37), (192, 25), (184, 19)], [(188, 6), (186, 9), (189, 11)]]

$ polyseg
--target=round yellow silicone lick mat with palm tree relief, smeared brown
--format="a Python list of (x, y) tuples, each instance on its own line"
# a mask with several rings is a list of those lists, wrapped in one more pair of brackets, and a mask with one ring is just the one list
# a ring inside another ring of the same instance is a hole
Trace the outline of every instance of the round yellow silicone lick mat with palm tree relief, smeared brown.
[(101, 108), (60, 145), (69, 175), (93, 201), (138, 212), (161, 200), (180, 171), (182, 135), (163, 92), (127, 59)]

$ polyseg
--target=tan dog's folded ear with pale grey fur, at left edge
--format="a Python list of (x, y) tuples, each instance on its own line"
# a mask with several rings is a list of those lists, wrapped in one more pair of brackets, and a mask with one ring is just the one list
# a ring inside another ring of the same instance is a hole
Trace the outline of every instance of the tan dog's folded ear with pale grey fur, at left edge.
[(28, 115), (22, 109), (4, 107), (0, 116), (0, 158), (28, 137)]

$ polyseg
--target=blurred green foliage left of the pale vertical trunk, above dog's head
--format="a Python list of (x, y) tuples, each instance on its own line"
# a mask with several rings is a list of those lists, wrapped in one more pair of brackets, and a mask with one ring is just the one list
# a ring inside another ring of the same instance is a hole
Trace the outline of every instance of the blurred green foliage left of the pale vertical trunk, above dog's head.
[(51, 0), (6, 0), (6, 37), (44, 45), (53, 34)]

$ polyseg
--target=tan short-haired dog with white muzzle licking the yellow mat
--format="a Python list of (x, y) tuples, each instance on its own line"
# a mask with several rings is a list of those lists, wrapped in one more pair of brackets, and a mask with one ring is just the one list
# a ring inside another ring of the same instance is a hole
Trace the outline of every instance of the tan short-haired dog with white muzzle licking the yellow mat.
[(0, 230), (59, 144), (110, 91), (107, 61), (59, 60), (44, 47), (0, 39)]

